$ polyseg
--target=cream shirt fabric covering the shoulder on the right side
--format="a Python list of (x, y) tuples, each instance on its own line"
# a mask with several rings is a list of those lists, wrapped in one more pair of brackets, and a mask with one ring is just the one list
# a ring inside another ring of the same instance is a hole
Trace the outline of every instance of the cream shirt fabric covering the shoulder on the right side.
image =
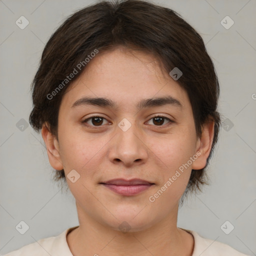
[(197, 232), (193, 230), (184, 230), (191, 233), (194, 237), (194, 249), (192, 256), (248, 256), (235, 250), (225, 243), (201, 237)]

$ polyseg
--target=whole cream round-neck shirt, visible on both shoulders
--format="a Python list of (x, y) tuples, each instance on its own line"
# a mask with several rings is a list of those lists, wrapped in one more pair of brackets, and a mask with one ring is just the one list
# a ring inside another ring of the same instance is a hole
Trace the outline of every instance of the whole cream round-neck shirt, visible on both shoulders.
[[(20, 249), (13, 250), (3, 256), (73, 256), (68, 247), (66, 235), (76, 227), (77, 226), (70, 227), (57, 236), (43, 238), (37, 242), (27, 244)], [(188, 229), (183, 230), (191, 233), (194, 237), (194, 249), (191, 256), (248, 256), (233, 249), (227, 244), (203, 238), (195, 231)]]

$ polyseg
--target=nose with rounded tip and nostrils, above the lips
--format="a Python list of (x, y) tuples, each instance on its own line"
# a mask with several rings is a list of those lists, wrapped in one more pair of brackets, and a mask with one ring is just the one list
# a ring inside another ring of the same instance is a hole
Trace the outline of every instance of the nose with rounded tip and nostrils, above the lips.
[(116, 134), (111, 139), (108, 156), (111, 162), (121, 162), (126, 167), (145, 163), (148, 148), (139, 127), (134, 123), (126, 131), (117, 127)]

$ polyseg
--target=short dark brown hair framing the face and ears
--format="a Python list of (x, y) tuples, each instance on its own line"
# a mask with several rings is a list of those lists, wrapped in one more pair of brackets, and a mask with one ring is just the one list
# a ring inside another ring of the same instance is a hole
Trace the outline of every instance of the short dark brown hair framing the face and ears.
[[(33, 109), (29, 123), (36, 130), (43, 123), (57, 138), (59, 105), (67, 87), (56, 89), (77, 65), (95, 49), (114, 46), (136, 48), (158, 57), (166, 72), (182, 71), (177, 82), (185, 89), (193, 110), (196, 135), (208, 119), (214, 120), (214, 137), (208, 160), (217, 141), (220, 117), (217, 112), (219, 84), (214, 65), (201, 36), (175, 11), (143, 0), (100, 1), (70, 15), (52, 34), (42, 52), (40, 66), (32, 83)], [(86, 68), (81, 66), (74, 81)], [(52, 95), (52, 94), (51, 94)], [(205, 166), (205, 167), (206, 167)], [(205, 182), (205, 167), (192, 170), (185, 193), (200, 189)], [(63, 169), (54, 179), (65, 179)], [(196, 189), (195, 189), (196, 190)]]

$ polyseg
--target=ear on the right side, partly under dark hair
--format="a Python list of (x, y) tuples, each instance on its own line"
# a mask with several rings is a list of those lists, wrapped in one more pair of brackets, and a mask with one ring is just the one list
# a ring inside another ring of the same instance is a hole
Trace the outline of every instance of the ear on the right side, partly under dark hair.
[(202, 169), (206, 165), (206, 160), (210, 154), (210, 149), (214, 135), (214, 121), (208, 120), (202, 127), (201, 137), (197, 139), (196, 155), (198, 156), (192, 163), (192, 169)]

